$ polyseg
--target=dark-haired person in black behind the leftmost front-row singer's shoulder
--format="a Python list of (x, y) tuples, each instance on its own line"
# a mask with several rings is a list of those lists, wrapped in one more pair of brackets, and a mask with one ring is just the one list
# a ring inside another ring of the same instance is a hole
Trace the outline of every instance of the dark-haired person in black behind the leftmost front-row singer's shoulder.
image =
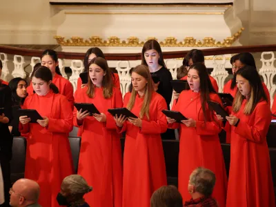
[(10, 90), (12, 91), (12, 116), (13, 119), (9, 123), (9, 129), (13, 136), (20, 136), (19, 132), (19, 116), (17, 110), (23, 106), (23, 103), (28, 95), (27, 81), (21, 77), (11, 79), (9, 82)]

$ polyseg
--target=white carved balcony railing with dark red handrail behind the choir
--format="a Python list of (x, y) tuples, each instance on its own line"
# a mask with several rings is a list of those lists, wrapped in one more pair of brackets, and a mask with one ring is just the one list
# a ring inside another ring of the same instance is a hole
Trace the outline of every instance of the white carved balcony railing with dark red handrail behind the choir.
[[(227, 48), (204, 49), (205, 64), (210, 68), (211, 75), (217, 80), (219, 91), (223, 90), (224, 84), (232, 77), (230, 57), (239, 52), (251, 52), (255, 57), (257, 69), (262, 75), (264, 83), (270, 92), (271, 104), (276, 90), (274, 77), (276, 68), (274, 66), (276, 45), (266, 46), (239, 46)], [(35, 63), (40, 62), (42, 50), (30, 50), (25, 48), (14, 48), (9, 46), (0, 46), (0, 57), (3, 62), (2, 79), (9, 81), (14, 77), (29, 78)], [(163, 52), (166, 66), (176, 79), (177, 68), (182, 65), (182, 59), (188, 51)], [(79, 73), (83, 70), (84, 53), (77, 52), (58, 52), (59, 68), (63, 77), (66, 77), (72, 83), (74, 90), (77, 88), (77, 79)], [(141, 63), (141, 53), (132, 54), (105, 54), (110, 68), (116, 68), (121, 83), (121, 92), (123, 95), (128, 92), (130, 85), (130, 68)], [(65, 72), (65, 68), (70, 67), (72, 75)]]

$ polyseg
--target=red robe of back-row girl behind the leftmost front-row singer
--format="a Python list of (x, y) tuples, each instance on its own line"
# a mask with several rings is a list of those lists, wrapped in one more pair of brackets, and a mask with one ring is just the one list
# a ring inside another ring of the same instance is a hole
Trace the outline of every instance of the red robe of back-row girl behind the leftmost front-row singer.
[[(71, 104), (71, 108), (74, 108), (74, 89), (72, 86), (72, 83), (68, 81), (68, 79), (63, 78), (61, 75), (55, 74), (54, 77), (52, 77), (52, 83), (54, 83), (57, 88), (59, 88), (59, 93), (61, 95), (64, 95), (67, 100)], [(29, 95), (33, 94), (34, 88), (32, 88), (32, 82), (30, 82), (30, 86), (27, 88), (27, 92)]]

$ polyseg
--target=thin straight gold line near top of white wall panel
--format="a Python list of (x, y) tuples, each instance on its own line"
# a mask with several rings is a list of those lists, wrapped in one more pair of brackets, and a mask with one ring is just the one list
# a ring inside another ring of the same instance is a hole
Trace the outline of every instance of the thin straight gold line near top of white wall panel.
[(199, 15), (199, 14), (207, 14), (207, 15), (223, 15), (224, 12), (65, 12), (65, 14), (145, 14), (145, 15), (152, 15), (152, 14), (186, 14), (186, 15)]

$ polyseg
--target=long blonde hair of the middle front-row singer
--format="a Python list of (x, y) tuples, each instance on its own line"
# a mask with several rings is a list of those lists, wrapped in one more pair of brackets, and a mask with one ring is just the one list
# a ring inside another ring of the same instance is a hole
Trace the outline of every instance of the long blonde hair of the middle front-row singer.
[[(148, 70), (148, 66), (139, 65), (133, 69), (132, 74), (133, 72), (136, 72), (138, 75), (141, 75), (141, 77), (144, 77), (148, 81), (148, 83), (146, 83), (146, 86), (145, 86), (144, 101), (143, 101), (143, 105), (140, 110), (139, 116), (142, 119), (144, 115), (146, 115), (146, 117), (150, 119), (150, 101), (152, 98), (152, 92), (154, 92), (150, 70)], [(128, 101), (128, 106), (127, 106), (128, 110), (132, 110), (135, 104), (136, 96), (137, 96), (137, 91), (133, 89), (131, 92), (130, 100)]]

